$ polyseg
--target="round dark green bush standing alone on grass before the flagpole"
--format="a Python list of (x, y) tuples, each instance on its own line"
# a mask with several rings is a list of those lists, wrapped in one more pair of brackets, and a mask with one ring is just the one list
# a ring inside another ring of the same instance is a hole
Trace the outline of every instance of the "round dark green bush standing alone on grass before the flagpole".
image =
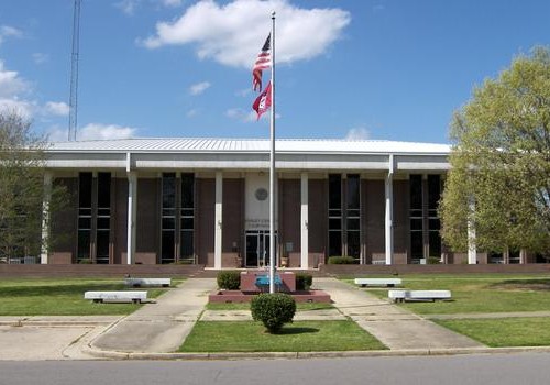
[(250, 309), (254, 321), (261, 321), (273, 334), (278, 332), (283, 324), (293, 321), (296, 301), (285, 293), (264, 293), (252, 298)]

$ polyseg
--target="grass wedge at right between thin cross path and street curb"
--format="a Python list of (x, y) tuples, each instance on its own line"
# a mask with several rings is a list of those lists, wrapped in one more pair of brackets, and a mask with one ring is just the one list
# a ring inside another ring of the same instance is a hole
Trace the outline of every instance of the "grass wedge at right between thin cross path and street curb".
[(550, 345), (550, 318), (464, 319), (436, 322), (491, 348)]

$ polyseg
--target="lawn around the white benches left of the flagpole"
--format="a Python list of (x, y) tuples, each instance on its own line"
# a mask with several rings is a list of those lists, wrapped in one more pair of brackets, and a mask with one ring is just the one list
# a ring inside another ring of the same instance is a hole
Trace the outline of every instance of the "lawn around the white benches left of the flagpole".
[[(84, 299), (88, 290), (124, 290), (122, 279), (37, 279), (0, 280), (0, 316), (101, 316), (129, 315), (141, 305), (94, 304)], [(155, 298), (167, 289), (147, 289)]]

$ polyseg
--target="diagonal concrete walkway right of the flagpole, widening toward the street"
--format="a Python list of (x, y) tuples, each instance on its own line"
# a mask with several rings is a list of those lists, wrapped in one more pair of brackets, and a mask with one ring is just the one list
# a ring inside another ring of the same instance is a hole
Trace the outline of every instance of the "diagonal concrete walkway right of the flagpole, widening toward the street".
[(336, 278), (316, 278), (315, 288), (389, 350), (481, 349), (485, 345)]

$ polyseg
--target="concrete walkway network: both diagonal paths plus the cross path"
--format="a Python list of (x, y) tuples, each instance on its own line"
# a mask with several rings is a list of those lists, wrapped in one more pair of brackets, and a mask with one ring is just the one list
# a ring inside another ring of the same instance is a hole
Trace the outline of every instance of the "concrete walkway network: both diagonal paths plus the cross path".
[[(488, 350), (427, 318), (550, 317), (549, 311), (421, 317), (336, 278), (316, 277), (314, 283), (314, 288), (330, 294), (336, 309), (300, 311), (295, 320), (350, 318), (397, 353)], [(124, 358), (129, 353), (142, 359), (167, 358), (162, 354), (176, 351), (198, 319), (251, 319), (246, 310), (205, 311), (208, 294), (216, 286), (215, 278), (187, 279), (127, 317), (0, 317), (0, 360), (90, 359), (87, 354)]]

